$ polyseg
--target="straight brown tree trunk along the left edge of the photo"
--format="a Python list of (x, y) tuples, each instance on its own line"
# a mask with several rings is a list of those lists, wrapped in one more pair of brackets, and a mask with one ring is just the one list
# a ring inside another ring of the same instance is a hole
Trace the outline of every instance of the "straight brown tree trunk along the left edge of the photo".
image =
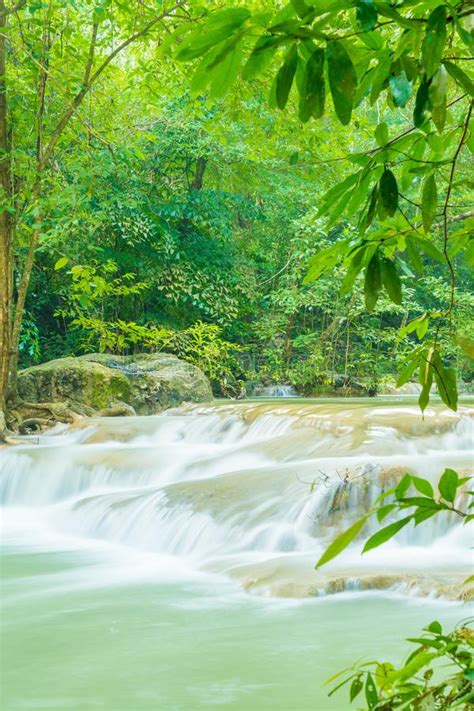
[[(6, 412), (9, 363), (12, 350), (12, 221), (11, 152), (7, 124), (6, 12), (0, 0), (0, 412)], [(0, 427), (1, 430), (1, 427)], [(1, 432), (0, 432), (1, 436)]]

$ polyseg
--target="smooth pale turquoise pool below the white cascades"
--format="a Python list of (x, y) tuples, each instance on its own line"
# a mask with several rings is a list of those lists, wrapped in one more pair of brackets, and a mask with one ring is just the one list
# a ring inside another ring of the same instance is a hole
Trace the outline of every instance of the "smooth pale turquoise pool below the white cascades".
[(117, 566), (91, 552), (4, 555), (4, 711), (343, 711), (344, 691), (323, 687), (335, 671), (401, 661), (404, 637), (466, 614), (383, 593), (265, 599), (218, 577)]

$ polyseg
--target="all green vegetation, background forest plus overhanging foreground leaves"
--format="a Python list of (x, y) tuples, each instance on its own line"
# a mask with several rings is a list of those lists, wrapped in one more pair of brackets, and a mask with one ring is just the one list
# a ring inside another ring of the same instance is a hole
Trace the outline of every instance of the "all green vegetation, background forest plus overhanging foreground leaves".
[[(91, 350), (177, 353), (224, 396), (414, 379), (456, 409), (472, 49), (465, 1), (0, 0), (2, 409), (19, 367)], [(402, 480), (366, 546), (463, 483)], [(467, 708), (471, 638), (425, 632), (400, 670), (349, 670), (350, 700)]]

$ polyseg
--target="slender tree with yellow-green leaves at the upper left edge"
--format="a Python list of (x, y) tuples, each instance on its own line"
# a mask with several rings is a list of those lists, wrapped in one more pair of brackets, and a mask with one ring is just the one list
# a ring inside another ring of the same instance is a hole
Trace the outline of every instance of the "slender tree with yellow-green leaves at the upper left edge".
[(54, 190), (55, 156), (77, 142), (77, 134), (85, 142), (94, 136), (107, 143), (81, 111), (86, 99), (88, 114), (110, 114), (107, 81), (118, 71), (118, 60), (140, 46), (150, 48), (142, 57), (155, 61), (153, 45), (191, 19), (184, 0), (151, 7), (113, 0), (0, 2), (2, 410), (7, 397), (16, 398), (21, 322)]

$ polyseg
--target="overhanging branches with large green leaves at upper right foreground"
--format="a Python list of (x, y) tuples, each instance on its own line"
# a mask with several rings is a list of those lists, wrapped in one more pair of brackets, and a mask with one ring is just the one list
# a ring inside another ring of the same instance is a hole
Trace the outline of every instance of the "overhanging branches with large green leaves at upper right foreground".
[[(375, 0), (330, 6), (298, 1), (276, 14), (241, 8), (210, 12), (204, 27), (177, 40), (178, 61), (200, 60), (192, 80), (195, 92), (210, 85), (211, 97), (220, 96), (241, 65), (246, 80), (276, 68), (270, 105), (285, 109), (294, 86), (303, 123), (324, 115), (326, 86), (343, 125), (351, 123), (354, 109), (384, 98), (387, 121), (377, 122), (375, 147), (349, 156), (357, 170), (326, 192), (318, 212), (328, 226), (342, 215), (354, 220), (357, 234), (319, 251), (306, 275), (310, 282), (342, 262), (343, 288), (350, 290), (363, 272), (369, 312), (383, 292), (401, 304), (401, 274), (421, 272), (421, 252), (448, 269), (449, 305), (432, 313), (431, 320), (451, 322), (454, 258), (463, 252), (472, 265), (472, 219), (450, 229), (452, 201), (460, 193), (456, 170), (465, 145), (472, 144), (474, 84), (460, 66), (473, 47), (466, 25), (470, 12), (463, 2), (405, 3), (395, 9)], [(441, 249), (433, 240), (438, 230)], [(440, 350), (438, 332), (436, 325), (433, 336), (413, 350), (405, 372), (410, 377), (419, 371), (422, 410), (433, 381), (455, 410), (456, 377)]]

